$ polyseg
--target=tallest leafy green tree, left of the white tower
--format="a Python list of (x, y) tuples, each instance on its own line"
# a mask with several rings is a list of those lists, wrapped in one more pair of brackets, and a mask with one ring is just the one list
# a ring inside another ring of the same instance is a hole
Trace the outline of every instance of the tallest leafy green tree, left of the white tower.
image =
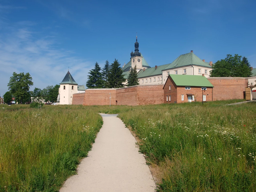
[(19, 103), (25, 102), (29, 95), (29, 87), (33, 85), (32, 77), (29, 73), (24, 72), (17, 74), (13, 72), (8, 83), (10, 93), (15, 97)]

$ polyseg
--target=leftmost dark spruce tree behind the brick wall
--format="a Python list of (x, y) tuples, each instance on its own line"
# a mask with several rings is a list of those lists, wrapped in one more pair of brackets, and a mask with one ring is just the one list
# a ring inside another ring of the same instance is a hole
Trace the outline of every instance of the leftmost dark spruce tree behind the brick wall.
[(100, 70), (99, 63), (96, 62), (94, 69), (90, 70), (90, 75), (88, 75), (88, 81), (86, 82), (86, 86), (89, 89), (100, 89), (103, 87), (102, 73)]

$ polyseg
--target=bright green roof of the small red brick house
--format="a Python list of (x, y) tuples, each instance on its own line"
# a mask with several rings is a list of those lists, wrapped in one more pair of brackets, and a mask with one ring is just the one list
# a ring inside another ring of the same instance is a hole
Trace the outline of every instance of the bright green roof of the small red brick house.
[(201, 75), (169, 75), (177, 86), (213, 87), (210, 81)]

